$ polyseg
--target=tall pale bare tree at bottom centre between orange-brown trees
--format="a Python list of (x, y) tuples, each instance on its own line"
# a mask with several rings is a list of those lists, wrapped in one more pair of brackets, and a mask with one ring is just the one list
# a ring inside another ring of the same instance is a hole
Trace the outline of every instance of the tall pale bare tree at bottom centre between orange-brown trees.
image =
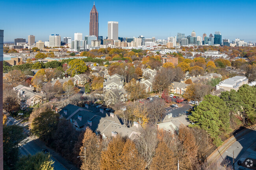
[(145, 161), (145, 168), (150, 166), (157, 144), (157, 131), (155, 128), (151, 127), (146, 127), (141, 130), (140, 138), (135, 140), (137, 150)]

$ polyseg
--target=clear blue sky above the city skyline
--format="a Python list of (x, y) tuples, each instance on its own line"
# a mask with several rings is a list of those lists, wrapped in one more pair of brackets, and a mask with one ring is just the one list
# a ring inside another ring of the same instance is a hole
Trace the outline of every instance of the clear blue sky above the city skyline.
[[(89, 35), (93, 0), (0, 0), (4, 41), (35, 35)], [(99, 36), (107, 36), (108, 21), (119, 22), (119, 37), (166, 39), (177, 33), (197, 36), (221, 31), (223, 38), (256, 42), (255, 0), (95, 0)]]

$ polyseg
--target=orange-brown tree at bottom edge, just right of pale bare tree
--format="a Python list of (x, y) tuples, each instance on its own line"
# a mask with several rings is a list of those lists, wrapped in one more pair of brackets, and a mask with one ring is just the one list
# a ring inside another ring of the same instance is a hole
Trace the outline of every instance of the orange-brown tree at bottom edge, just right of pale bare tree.
[(152, 159), (150, 170), (176, 170), (176, 161), (173, 151), (167, 144), (160, 142)]

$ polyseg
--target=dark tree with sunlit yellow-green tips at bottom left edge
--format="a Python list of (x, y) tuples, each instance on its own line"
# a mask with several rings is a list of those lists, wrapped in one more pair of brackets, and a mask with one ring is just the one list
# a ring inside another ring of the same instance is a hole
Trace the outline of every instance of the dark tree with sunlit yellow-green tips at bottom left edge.
[(38, 152), (35, 155), (22, 156), (17, 164), (17, 170), (54, 170), (54, 161), (50, 154)]

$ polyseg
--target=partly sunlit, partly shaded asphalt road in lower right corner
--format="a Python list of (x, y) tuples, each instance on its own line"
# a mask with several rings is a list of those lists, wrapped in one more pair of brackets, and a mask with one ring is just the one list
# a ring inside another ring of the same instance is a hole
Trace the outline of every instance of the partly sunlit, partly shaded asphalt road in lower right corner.
[(221, 154), (223, 158), (219, 157), (219, 160), (223, 161), (223, 159), (229, 159), (230, 162), (233, 163), (232, 159), (234, 151), (234, 159), (236, 163), (241, 155), (247, 152), (247, 149), (250, 148), (250, 146), (252, 146), (254, 143), (256, 143), (256, 131), (251, 130), (249, 133), (237, 138), (236, 142), (234, 142), (231, 146), (228, 146), (226, 151)]

